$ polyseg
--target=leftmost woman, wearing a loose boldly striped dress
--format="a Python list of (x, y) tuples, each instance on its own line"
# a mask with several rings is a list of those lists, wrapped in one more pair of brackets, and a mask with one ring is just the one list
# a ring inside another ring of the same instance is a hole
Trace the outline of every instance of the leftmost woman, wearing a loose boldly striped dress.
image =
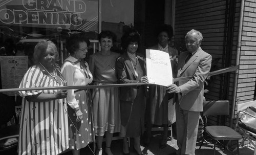
[[(63, 77), (52, 41), (38, 42), (35, 65), (29, 68), (19, 88), (62, 86)], [(68, 117), (62, 99), (66, 90), (19, 92), (23, 97), (18, 154), (59, 154), (68, 149)]]

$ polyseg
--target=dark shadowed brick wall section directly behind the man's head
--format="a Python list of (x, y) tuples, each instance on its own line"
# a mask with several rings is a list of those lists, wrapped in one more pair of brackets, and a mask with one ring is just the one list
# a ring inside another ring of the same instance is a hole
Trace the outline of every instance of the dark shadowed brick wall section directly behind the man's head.
[[(203, 34), (202, 49), (211, 54), (212, 58), (222, 57), (224, 39), (225, 1), (176, 1), (175, 11), (175, 46), (186, 49), (185, 34), (191, 30), (199, 30)], [(218, 68), (221, 69), (221, 61)], [(212, 77), (216, 84), (211, 83), (207, 99), (219, 99), (220, 77)]]

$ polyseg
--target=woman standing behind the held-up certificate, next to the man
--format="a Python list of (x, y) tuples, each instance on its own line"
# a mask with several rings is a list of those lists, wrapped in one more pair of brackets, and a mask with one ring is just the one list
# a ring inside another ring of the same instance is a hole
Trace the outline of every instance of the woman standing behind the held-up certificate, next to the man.
[[(178, 50), (168, 46), (168, 41), (173, 37), (172, 27), (162, 25), (155, 31), (158, 43), (149, 49), (163, 51), (169, 54), (170, 63), (172, 64), (173, 77), (176, 78)], [(149, 98), (146, 106), (146, 135), (144, 138), (145, 145), (150, 143), (152, 125), (163, 126), (163, 137), (159, 144), (160, 148), (164, 148), (167, 143), (168, 133), (168, 93), (166, 87), (162, 85), (150, 85)]]

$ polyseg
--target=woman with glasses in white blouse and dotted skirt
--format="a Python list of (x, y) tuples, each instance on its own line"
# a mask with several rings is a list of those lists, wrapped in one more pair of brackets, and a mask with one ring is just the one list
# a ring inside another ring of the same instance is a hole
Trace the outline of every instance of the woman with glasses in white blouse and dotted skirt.
[[(86, 57), (90, 41), (82, 34), (72, 35), (66, 42), (71, 54), (61, 68), (67, 85), (88, 85), (93, 76), (89, 65), (82, 59)], [(80, 154), (80, 149), (95, 141), (92, 119), (92, 102), (89, 90), (68, 90), (69, 149)]]

